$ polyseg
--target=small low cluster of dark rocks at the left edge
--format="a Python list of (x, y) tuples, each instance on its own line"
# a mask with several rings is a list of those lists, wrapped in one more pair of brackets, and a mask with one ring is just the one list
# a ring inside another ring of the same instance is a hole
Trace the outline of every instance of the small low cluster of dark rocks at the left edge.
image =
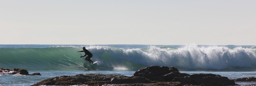
[(19, 68), (13, 68), (12, 70), (0, 68), (0, 75), (2, 74), (41, 75), (40, 73), (28, 74), (28, 71), (26, 69), (19, 69)]

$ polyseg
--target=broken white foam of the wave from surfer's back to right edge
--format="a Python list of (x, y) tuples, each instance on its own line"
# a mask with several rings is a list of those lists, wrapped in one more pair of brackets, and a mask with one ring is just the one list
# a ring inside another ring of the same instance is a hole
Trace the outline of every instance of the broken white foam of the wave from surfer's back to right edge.
[[(150, 46), (148, 49), (90, 46), (88, 49), (93, 53), (93, 60), (101, 61), (102, 65), (116, 69), (133, 67), (134, 65), (131, 63), (145, 66), (175, 66), (183, 69), (227, 69), (256, 66), (254, 48), (185, 45), (178, 49), (156, 46)], [(127, 65), (127, 67), (118, 65)]]

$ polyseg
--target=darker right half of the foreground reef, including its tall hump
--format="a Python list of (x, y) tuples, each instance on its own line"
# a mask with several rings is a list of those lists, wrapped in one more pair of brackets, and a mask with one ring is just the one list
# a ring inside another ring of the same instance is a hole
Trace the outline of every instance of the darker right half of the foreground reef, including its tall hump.
[(215, 74), (185, 74), (175, 67), (149, 66), (136, 71), (133, 76), (145, 77), (152, 81), (180, 81), (184, 85), (236, 85), (233, 80)]

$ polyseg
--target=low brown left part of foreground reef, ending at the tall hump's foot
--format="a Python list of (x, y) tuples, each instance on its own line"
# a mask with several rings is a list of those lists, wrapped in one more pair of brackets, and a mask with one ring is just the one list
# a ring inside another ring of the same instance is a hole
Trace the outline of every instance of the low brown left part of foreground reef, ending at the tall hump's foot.
[(104, 84), (134, 84), (150, 83), (151, 80), (143, 77), (127, 77), (111, 74), (79, 74), (75, 76), (60, 76), (45, 79), (34, 84), (37, 85), (104, 85)]

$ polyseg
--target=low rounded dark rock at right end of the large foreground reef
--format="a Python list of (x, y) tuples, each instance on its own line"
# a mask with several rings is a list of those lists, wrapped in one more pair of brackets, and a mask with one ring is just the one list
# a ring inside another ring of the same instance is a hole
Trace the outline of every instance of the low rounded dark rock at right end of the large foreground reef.
[(192, 85), (216, 85), (216, 86), (227, 86), (237, 85), (234, 80), (230, 80), (227, 77), (222, 77), (216, 74), (193, 74), (186, 77), (175, 77), (173, 81), (180, 81), (183, 84)]

